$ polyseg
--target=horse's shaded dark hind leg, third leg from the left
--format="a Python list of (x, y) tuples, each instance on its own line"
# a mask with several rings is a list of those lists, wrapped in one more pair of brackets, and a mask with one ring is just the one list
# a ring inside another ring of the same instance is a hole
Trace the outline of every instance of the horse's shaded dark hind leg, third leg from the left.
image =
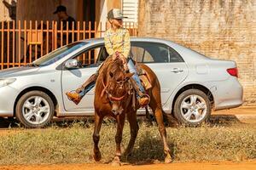
[(127, 114), (127, 119), (128, 122), (130, 124), (130, 133), (131, 133), (131, 137), (130, 137), (130, 141), (129, 144), (125, 150), (125, 156), (130, 156), (131, 155), (131, 151), (133, 149), (135, 140), (137, 138), (137, 132), (139, 130), (139, 126), (137, 124), (137, 115), (136, 112), (131, 112)]

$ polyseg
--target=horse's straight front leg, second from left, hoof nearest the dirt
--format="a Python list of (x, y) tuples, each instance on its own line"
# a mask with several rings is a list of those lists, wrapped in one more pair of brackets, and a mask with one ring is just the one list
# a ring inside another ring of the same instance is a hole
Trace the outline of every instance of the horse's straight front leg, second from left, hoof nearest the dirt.
[(115, 135), (115, 144), (116, 144), (116, 150), (115, 150), (115, 157), (113, 158), (112, 165), (113, 166), (120, 166), (120, 156), (121, 156), (121, 142), (122, 142), (122, 136), (123, 136), (123, 129), (125, 125), (125, 113), (116, 116), (117, 121), (117, 132)]

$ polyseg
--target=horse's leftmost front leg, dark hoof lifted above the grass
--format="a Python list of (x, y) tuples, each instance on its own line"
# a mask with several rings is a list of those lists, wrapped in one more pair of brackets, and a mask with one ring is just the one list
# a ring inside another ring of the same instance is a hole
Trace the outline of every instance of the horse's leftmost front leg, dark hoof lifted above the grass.
[(94, 149), (93, 149), (93, 158), (95, 161), (100, 161), (102, 159), (102, 154), (99, 149), (99, 141), (100, 141), (100, 130), (102, 127), (102, 120), (103, 117), (99, 116), (98, 113), (95, 113), (95, 120), (94, 120), (94, 133), (92, 135), (93, 142), (94, 142)]

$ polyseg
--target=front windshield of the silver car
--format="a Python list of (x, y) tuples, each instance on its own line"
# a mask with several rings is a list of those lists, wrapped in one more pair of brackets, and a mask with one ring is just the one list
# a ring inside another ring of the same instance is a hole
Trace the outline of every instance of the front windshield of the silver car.
[(57, 50), (44, 55), (42, 58), (35, 60), (32, 64), (38, 66), (45, 66), (55, 63), (57, 60), (62, 59), (67, 54), (72, 53), (78, 48), (83, 47), (87, 42), (74, 42), (67, 46), (58, 48)]

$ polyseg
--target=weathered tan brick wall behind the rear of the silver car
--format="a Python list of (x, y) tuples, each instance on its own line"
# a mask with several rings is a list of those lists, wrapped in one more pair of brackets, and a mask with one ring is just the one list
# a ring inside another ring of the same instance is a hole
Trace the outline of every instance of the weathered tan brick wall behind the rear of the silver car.
[(139, 36), (235, 60), (244, 105), (256, 106), (256, 0), (140, 0)]

